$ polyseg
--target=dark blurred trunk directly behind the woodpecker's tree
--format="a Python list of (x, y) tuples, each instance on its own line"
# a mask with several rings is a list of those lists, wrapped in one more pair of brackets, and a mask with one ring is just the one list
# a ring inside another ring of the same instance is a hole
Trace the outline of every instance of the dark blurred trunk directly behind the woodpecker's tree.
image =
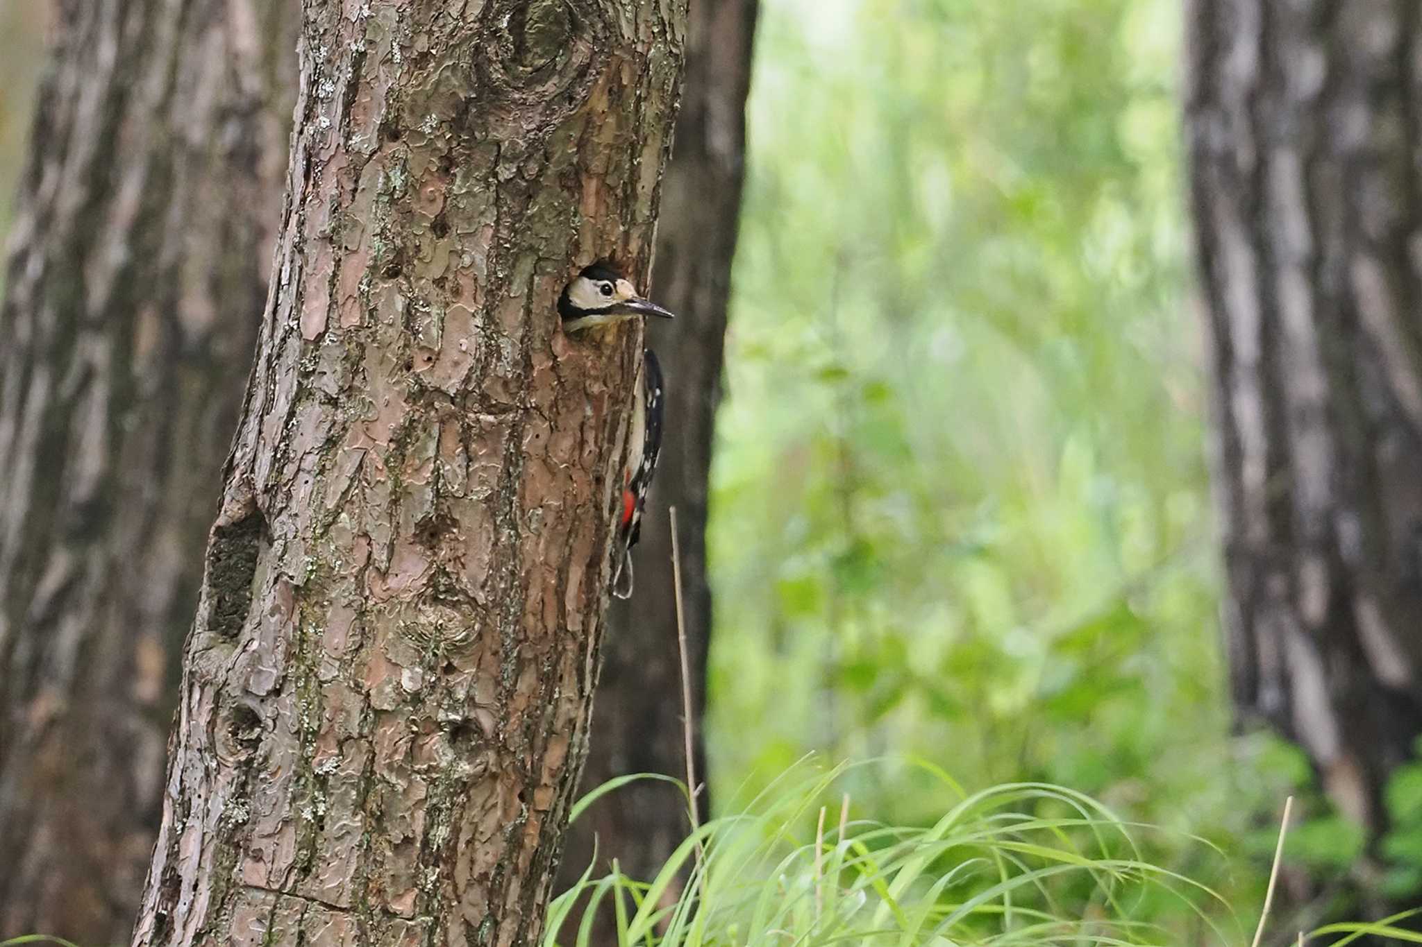
[[(691, 0), (687, 82), (677, 143), (667, 168), (653, 287), (683, 318), (651, 329), (667, 376), (665, 442), (653, 481), (648, 521), (636, 549), (637, 585), (614, 605), (603, 650), (583, 788), (629, 772), (685, 774), (681, 670), (671, 576), (668, 507), (677, 507), (687, 639), (691, 650), (697, 772), (705, 778), (701, 714), (711, 633), (707, 584), (707, 483), (731, 258), (735, 256), (745, 160), (745, 97), (757, 0)], [(707, 797), (700, 798), (707, 811)], [(604, 797), (573, 826), (563, 882), (593, 856), (619, 859), (650, 879), (688, 832), (685, 799), (664, 782), (641, 782)]]

